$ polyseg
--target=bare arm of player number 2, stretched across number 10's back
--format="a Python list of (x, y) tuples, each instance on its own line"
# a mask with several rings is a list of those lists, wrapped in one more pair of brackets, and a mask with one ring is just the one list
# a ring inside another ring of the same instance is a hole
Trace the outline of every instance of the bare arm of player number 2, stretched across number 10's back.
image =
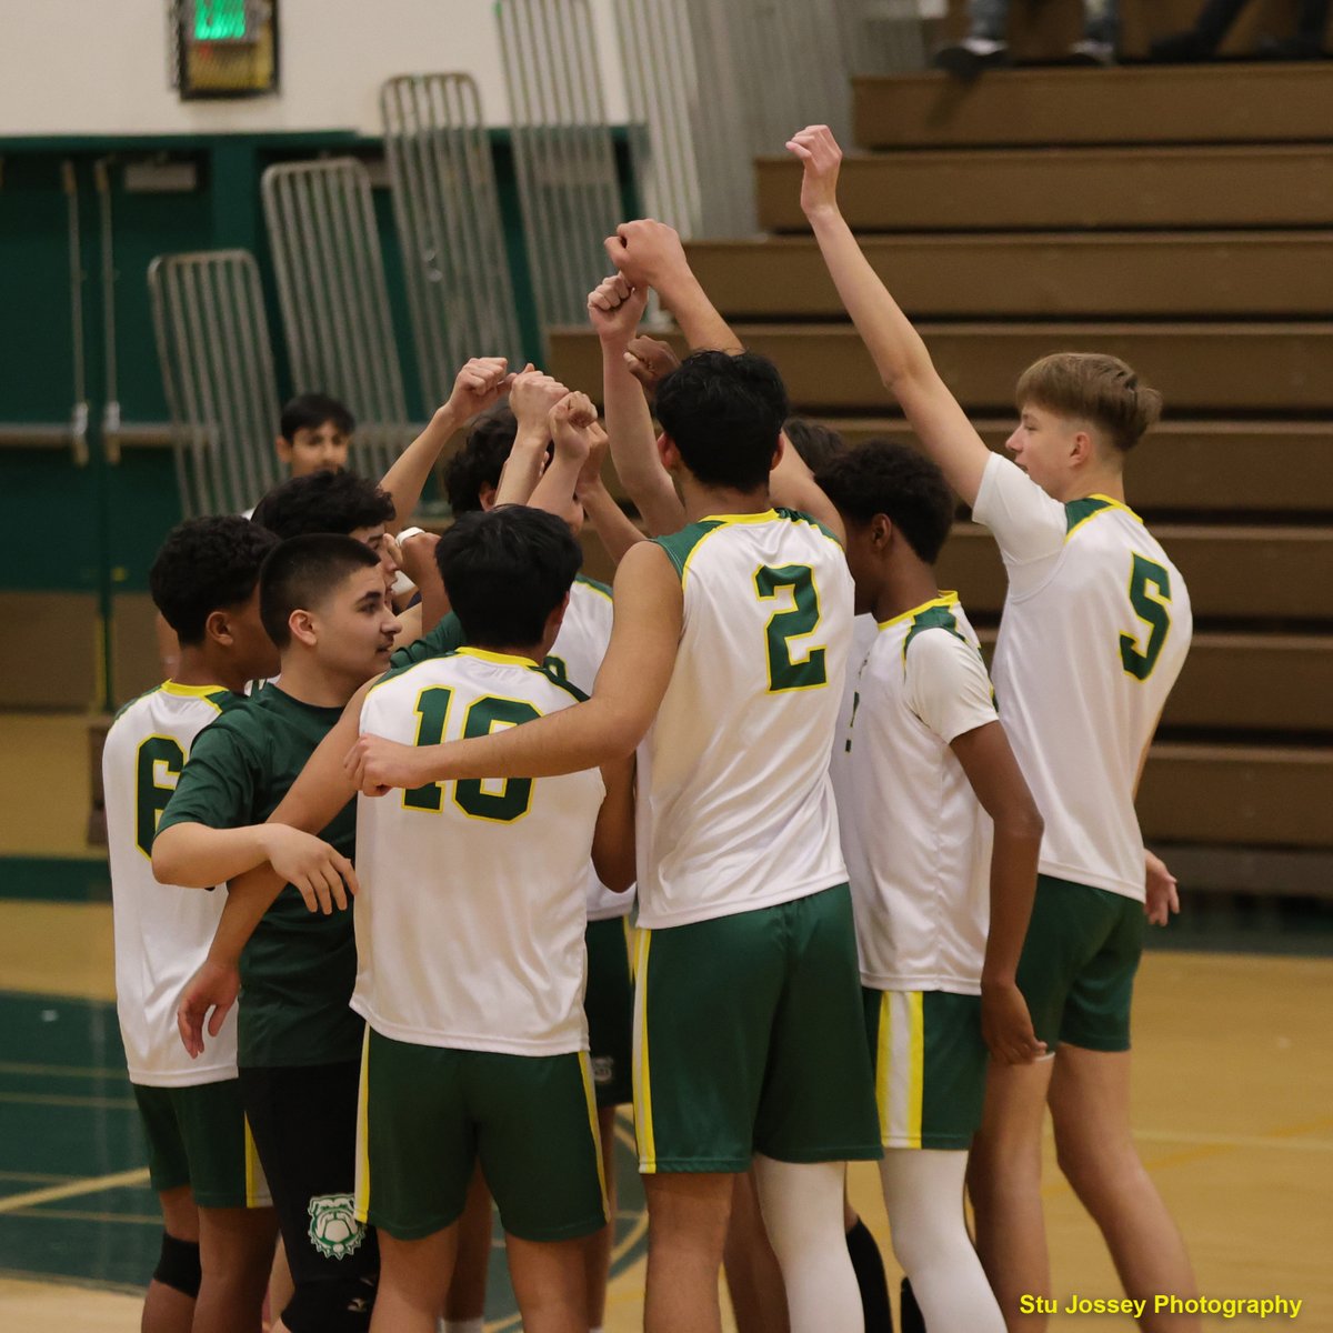
[(666, 553), (640, 543), (616, 571), (616, 619), (592, 698), (493, 736), (399, 745), (363, 733), (347, 756), (357, 788), (381, 796), (460, 777), (551, 777), (631, 754), (670, 682), (684, 599)]

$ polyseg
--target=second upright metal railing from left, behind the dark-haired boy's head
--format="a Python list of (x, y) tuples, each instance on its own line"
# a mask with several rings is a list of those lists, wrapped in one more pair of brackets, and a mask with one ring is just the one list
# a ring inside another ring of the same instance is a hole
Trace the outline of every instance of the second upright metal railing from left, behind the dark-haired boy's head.
[(380, 477), (416, 432), (369, 175), (355, 157), (283, 163), (260, 191), (293, 387), (347, 403), (357, 419), (352, 467)]

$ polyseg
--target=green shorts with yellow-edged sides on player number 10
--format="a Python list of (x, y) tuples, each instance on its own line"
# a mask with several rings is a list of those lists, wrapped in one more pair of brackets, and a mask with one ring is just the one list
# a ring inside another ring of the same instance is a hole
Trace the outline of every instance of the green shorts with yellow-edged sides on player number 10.
[(456, 1222), (477, 1160), (504, 1229), (563, 1241), (607, 1225), (587, 1052), (509, 1056), (392, 1041), (361, 1061), (356, 1216), (415, 1241)]

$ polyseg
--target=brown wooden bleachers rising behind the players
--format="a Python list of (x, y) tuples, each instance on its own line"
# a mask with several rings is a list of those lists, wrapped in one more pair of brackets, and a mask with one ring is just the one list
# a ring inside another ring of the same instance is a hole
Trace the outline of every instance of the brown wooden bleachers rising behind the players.
[[(1129, 3), (1128, 48), (1192, 8)], [(1037, 7), (1020, 53), (1058, 53), (1076, 9)], [(992, 448), (1046, 352), (1112, 352), (1165, 396), (1128, 489), (1189, 583), (1196, 641), (1140, 809), (1229, 888), (1333, 892), (1310, 870), (1333, 865), (1330, 108), (1333, 63), (854, 81), (845, 212)], [(768, 235), (693, 243), (706, 289), (800, 411), (909, 437), (805, 229), (798, 164), (756, 169)], [(557, 331), (551, 369), (596, 392), (596, 339)], [(941, 581), (992, 633), (985, 532), (960, 521)]]

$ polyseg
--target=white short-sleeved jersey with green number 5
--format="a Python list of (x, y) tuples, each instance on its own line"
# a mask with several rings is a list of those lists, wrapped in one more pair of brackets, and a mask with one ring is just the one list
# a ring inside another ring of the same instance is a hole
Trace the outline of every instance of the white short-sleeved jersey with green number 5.
[(1134, 784), (1189, 651), (1185, 580), (1132, 509), (1060, 504), (1000, 455), (973, 517), (1009, 575), (994, 682), (1046, 821), (1041, 872), (1142, 901)]

